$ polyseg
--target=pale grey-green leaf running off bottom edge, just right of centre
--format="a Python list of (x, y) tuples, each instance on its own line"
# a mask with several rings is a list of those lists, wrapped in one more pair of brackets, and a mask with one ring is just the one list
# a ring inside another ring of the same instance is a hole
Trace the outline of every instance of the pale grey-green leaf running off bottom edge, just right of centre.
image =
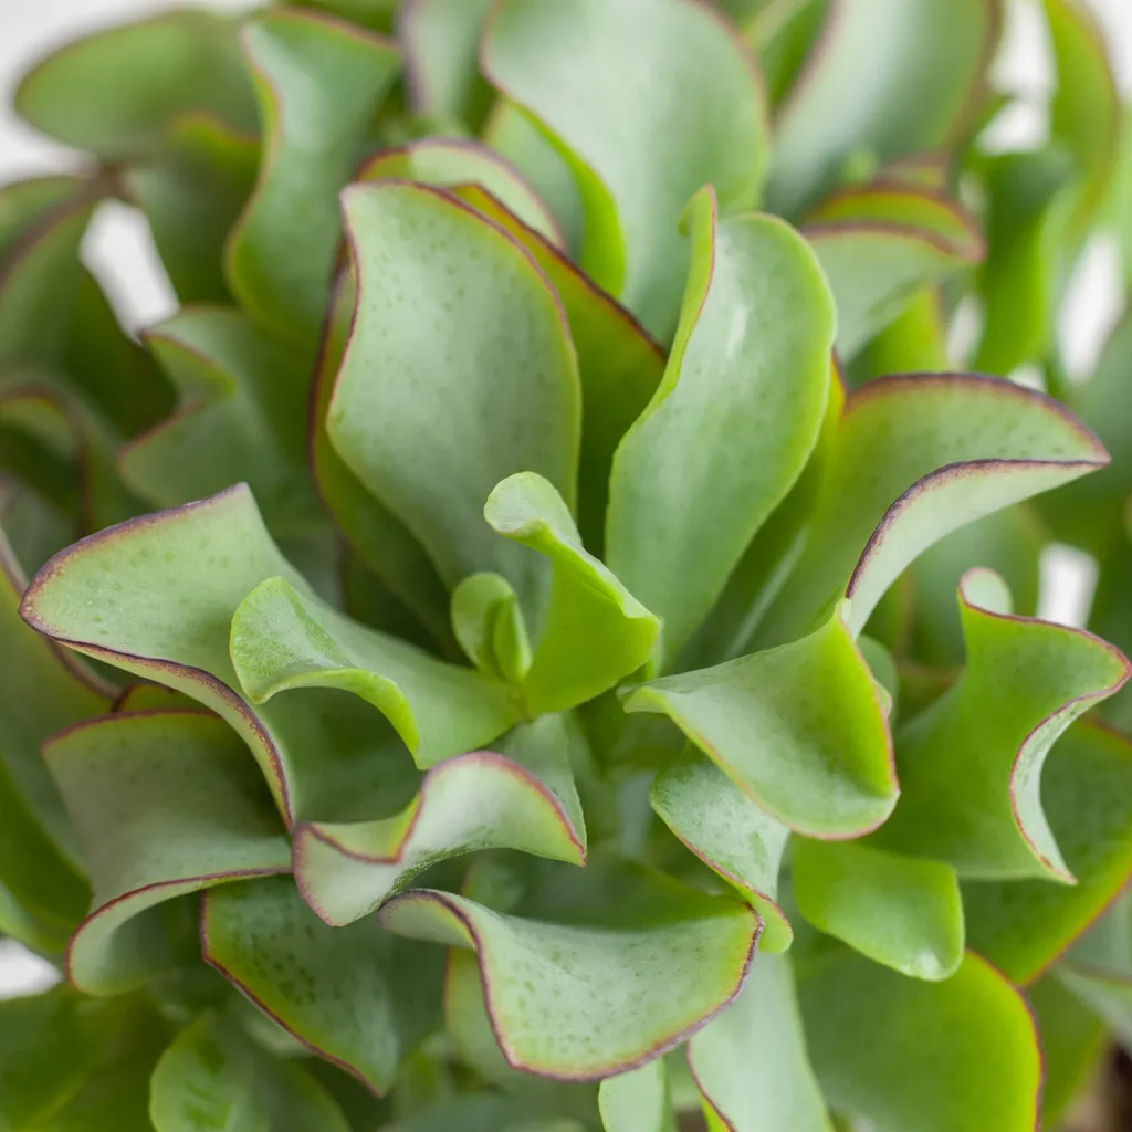
[(755, 957), (738, 998), (688, 1043), (688, 1064), (720, 1132), (832, 1132), (784, 955)]

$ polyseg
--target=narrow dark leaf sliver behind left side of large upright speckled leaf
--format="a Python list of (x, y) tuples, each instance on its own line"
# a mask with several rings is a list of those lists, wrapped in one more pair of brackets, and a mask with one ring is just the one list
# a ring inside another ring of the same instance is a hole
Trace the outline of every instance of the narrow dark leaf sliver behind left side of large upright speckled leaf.
[(342, 533), (381, 583), (413, 611), (444, 651), (455, 653), (448, 593), (415, 537), (366, 489), (337, 454), (326, 429), (334, 381), (353, 327), (355, 284), (343, 271), (323, 329), (315, 371), (308, 451), (318, 492)]

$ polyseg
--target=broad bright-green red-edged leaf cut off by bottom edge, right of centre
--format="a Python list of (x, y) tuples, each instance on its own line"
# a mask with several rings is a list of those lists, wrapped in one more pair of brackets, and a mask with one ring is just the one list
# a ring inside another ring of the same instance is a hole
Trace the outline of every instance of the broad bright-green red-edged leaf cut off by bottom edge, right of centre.
[(943, 983), (838, 950), (798, 971), (829, 1104), (876, 1132), (1032, 1132), (1041, 1056), (1021, 995), (968, 952)]

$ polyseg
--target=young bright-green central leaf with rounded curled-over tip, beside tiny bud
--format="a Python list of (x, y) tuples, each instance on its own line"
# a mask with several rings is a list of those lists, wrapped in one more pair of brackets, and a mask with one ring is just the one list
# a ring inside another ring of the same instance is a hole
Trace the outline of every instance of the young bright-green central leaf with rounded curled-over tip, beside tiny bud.
[(483, 514), (492, 530), (550, 560), (541, 636), (522, 680), (528, 714), (592, 700), (645, 663), (660, 621), (585, 551), (550, 483), (533, 472), (512, 475), (488, 497)]

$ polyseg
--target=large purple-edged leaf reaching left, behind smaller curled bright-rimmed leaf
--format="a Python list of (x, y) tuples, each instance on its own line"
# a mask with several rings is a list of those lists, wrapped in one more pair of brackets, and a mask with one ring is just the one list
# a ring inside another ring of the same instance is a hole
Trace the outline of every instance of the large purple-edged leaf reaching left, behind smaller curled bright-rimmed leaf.
[(220, 713), (251, 748), (288, 823), (395, 813), (414, 789), (411, 764), (370, 704), (312, 689), (252, 709), (235, 691), (232, 617), (273, 577), (306, 590), (251, 494), (237, 487), (62, 551), (32, 583), (22, 614), (41, 633)]

